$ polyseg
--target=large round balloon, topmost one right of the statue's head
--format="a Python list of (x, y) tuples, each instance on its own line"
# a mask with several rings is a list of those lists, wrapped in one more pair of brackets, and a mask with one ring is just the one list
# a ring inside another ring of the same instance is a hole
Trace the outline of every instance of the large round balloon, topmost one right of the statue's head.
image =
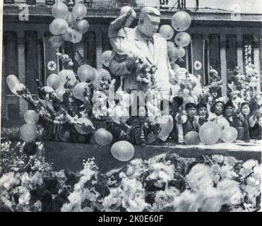
[(172, 27), (177, 31), (184, 31), (191, 24), (191, 16), (185, 11), (179, 11), (172, 16)]

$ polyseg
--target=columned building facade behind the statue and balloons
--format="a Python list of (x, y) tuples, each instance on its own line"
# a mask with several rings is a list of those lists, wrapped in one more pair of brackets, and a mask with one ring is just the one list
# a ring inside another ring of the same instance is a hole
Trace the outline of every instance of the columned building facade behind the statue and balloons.
[[(73, 6), (75, 1), (69, 2)], [(82, 2), (88, 8), (86, 19), (90, 28), (76, 46), (88, 64), (100, 69), (102, 52), (112, 49), (107, 37), (109, 23), (119, 16), (121, 6), (131, 4), (137, 13), (141, 6), (136, 1)], [(6, 77), (9, 74), (18, 76), (33, 94), (37, 93), (35, 80), (40, 79), (44, 83), (48, 76), (45, 73), (44, 38), (51, 35), (49, 23), (54, 19), (52, 4), (53, 0), (4, 0), (2, 118), (14, 121), (28, 109), (25, 101), (8, 90)], [(160, 7), (160, 11), (161, 25), (171, 25), (172, 15), (177, 8)], [(186, 67), (190, 73), (200, 74), (204, 85), (208, 84), (208, 72), (212, 66), (223, 81), (223, 95), (227, 94), (227, 81), (230, 81), (236, 66), (244, 71), (244, 65), (249, 61), (262, 75), (261, 14), (235, 14), (210, 8), (199, 8), (198, 11), (189, 9), (188, 12), (192, 23), (186, 32), (191, 35), (191, 44), (186, 47), (186, 56), (179, 63), (180, 66)], [(136, 21), (133, 23), (135, 25)], [(170, 41), (174, 42), (174, 38)], [(60, 51), (70, 55), (72, 48), (71, 43), (65, 42)]]

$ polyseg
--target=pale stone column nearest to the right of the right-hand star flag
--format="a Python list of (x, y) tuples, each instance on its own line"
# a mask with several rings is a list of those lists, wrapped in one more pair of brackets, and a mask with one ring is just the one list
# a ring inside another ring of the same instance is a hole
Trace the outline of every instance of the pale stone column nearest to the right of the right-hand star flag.
[(222, 80), (222, 96), (227, 95), (227, 55), (226, 55), (226, 37), (220, 35), (220, 67)]

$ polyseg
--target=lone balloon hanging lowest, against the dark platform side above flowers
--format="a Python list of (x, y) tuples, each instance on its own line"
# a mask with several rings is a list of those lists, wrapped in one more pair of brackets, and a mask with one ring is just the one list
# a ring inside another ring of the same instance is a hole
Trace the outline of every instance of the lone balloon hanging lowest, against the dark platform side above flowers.
[(128, 141), (118, 141), (112, 145), (111, 153), (117, 160), (127, 162), (133, 157), (135, 148)]

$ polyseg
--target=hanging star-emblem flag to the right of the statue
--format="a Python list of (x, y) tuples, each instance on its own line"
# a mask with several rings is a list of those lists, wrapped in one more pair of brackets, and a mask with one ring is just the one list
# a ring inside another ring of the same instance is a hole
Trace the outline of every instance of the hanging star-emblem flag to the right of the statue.
[(201, 76), (201, 84), (204, 85), (204, 40), (203, 35), (192, 35), (191, 60), (193, 75)]

